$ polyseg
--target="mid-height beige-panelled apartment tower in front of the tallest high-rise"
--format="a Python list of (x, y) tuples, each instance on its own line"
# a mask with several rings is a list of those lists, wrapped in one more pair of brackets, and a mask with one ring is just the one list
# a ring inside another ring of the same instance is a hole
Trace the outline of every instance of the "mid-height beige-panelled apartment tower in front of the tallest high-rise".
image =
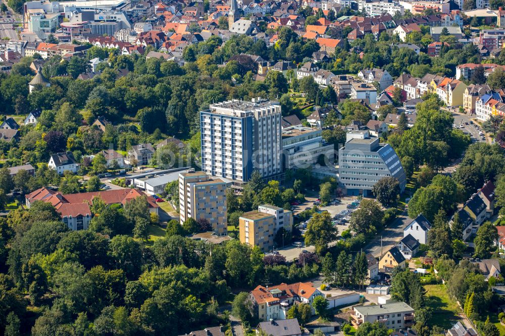
[(205, 218), (217, 236), (228, 234), (226, 215), (227, 183), (204, 172), (179, 174), (180, 223), (193, 218)]

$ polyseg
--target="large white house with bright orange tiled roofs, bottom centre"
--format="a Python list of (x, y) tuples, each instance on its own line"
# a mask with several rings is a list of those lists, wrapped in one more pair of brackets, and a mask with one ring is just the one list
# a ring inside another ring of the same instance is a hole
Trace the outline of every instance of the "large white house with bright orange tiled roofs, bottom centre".
[[(258, 286), (249, 292), (255, 313), (261, 321), (284, 320), (289, 308), (296, 304), (295, 301), (307, 303), (312, 307), (317, 296), (324, 297), (324, 294), (314, 288), (312, 283)], [(312, 314), (315, 314), (314, 308), (312, 308)]]

